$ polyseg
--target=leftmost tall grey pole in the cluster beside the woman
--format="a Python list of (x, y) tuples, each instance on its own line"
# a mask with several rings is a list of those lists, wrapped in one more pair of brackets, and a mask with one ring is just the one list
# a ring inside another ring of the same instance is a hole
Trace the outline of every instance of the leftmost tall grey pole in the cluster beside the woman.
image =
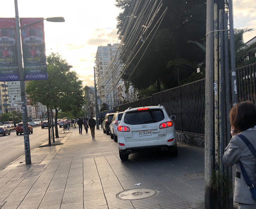
[[(206, 34), (213, 31), (213, 0), (206, 1)], [(213, 170), (213, 33), (206, 35), (206, 63), (205, 63), (205, 145), (204, 145), (204, 181), (206, 209), (211, 208), (213, 194), (211, 178)]]

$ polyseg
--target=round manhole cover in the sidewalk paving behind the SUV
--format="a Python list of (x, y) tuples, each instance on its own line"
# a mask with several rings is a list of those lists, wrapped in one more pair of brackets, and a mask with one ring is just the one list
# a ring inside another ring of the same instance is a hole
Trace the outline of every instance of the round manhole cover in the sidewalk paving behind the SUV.
[(124, 190), (119, 192), (116, 197), (122, 200), (139, 200), (144, 198), (149, 198), (156, 194), (155, 190), (145, 189), (145, 188), (137, 188), (131, 190)]

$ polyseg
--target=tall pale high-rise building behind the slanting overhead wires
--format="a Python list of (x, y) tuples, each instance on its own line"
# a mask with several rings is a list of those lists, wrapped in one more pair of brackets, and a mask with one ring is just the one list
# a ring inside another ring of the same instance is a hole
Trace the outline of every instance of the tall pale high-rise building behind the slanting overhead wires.
[(120, 60), (116, 54), (119, 45), (119, 43), (112, 45), (109, 43), (106, 46), (98, 46), (95, 56), (98, 97), (101, 99), (101, 104), (106, 103), (109, 109), (118, 106), (117, 86), (121, 81), (115, 84), (117, 74), (114, 70), (120, 68)]

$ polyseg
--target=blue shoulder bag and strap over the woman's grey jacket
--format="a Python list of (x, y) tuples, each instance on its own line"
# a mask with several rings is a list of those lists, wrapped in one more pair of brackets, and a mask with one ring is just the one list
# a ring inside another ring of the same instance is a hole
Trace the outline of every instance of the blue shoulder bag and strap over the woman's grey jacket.
[[(245, 136), (243, 136), (242, 134), (238, 134), (237, 136), (247, 145), (249, 150), (252, 152), (252, 154), (256, 158), (256, 150), (253, 147), (253, 145), (249, 142), (249, 140)], [(243, 167), (243, 165), (240, 161), (239, 161), (239, 165), (241, 167), (241, 172), (242, 172), (243, 179), (246, 182), (246, 184), (247, 184), (247, 186), (250, 190), (251, 196), (252, 196), (253, 200), (256, 201), (256, 184), (255, 184), (255, 182), (253, 184), (250, 182), (250, 180), (249, 180), (249, 178), (248, 178), (248, 176), (245, 172), (245, 169), (244, 169), (244, 167)], [(254, 179), (254, 181), (255, 181), (255, 179)], [(254, 187), (254, 185), (255, 185), (255, 187)]]

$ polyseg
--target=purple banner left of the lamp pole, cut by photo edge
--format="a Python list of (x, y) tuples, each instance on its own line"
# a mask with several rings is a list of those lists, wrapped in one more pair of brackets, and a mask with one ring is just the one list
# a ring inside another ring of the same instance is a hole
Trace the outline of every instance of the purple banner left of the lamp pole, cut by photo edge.
[(0, 81), (19, 80), (15, 18), (0, 18)]

